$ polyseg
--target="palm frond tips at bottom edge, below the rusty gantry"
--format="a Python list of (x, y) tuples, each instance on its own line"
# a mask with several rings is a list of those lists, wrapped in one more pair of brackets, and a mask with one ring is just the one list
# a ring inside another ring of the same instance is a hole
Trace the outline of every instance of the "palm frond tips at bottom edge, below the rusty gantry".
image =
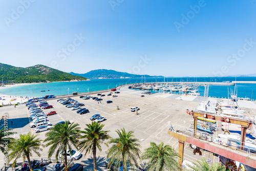
[(193, 162), (193, 164), (194, 165), (188, 165), (188, 167), (195, 171), (225, 171), (226, 170), (225, 167), (220, 163), (209, 165), (209, 163), (205, 159), (202, 159), (202, 161), (197, 160), (197, 163)]

